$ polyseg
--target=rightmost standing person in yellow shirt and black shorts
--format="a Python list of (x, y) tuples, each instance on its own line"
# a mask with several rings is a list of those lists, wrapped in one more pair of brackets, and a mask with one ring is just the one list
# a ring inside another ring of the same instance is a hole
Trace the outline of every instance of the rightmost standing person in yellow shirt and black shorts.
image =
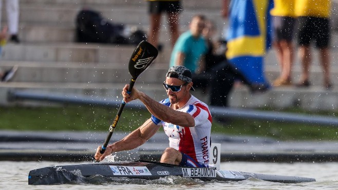
[(298, 16), (298, 45), (299, 56), (302, 62), (302, 76), (298, 87), (310, 86), (310, 41), (315, 41), (315, 47), (320, 51), (320, 61), (324, 74), (324, 88), (332, 87), (330, 81), (330, 59), (329, 59), (329, 38), (330, 38), (330, 0), (296, 0), (295, 14)]

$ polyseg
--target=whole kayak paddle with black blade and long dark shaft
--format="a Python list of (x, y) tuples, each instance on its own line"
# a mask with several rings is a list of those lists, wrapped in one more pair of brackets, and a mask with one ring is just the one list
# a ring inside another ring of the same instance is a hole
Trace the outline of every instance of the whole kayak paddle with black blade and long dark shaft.
[[(137, 77), (152, 64), (153, 60), (157, 57), (157, 54), (157, 49), (153, 45), (149, 44), (147, 41), (141, 41), (141, 43), (136, 47), (134, 53), (132, 54), (132, 57), (130, 57), (129, 60), (128, 70), (130, 75), (132, 75), (132, 79), (130, 80), (127, 93), (130, 94), (132, 92)], [(119, 111), (114, 121), (110, 125), (109, 133), (101, 147), (101, 154), (103, 154), (107, 148), (111, 135), (112, 133), (114, 133), (115, 127), (123, 111), (124, 105), (125, 101), (122, 100)]]

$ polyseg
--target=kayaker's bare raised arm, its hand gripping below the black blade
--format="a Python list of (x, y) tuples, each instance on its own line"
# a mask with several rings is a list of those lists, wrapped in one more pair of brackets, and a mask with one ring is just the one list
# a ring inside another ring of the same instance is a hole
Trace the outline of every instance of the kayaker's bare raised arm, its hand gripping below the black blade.
[(129, 95), (127, 92), (129, 85), (126, 85), (123, 89), (123, 97), (125, 102), (129, 102), (135, 99), (139, 99), (148, 109), (148, 111), (153, 114), (158, 119), (180, 125), (193, 127), (195, 126), (195, 119), (189, 113), (179, 112), (170, 107), (162, 105), (161, 103), (155, 101), (151, 97), (147, 96), (143, 92), (138, 91), (136, 88), (133, 88), (132, 93)]

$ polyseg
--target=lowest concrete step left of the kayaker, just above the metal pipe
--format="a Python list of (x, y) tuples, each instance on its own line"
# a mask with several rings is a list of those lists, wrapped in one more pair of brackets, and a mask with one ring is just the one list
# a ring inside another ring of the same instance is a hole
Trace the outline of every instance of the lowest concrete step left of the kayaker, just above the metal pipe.
[[(130, 79), (129, 79), (130, 81)], [(27, 91), (34, 93), (49, 93), (53, 94), (64, 94), (67, 96), (87, 96), (93, 99), (112, 99), (121, 100), (122, 88), (126, 82), (118, 83), (95, 83), (95, 82), (0, 82), (0, 105), (13, 106), (13, 105), (26, 105), (26, 106), (39, 106), (39, 105), (54, 105), (51, 102), (44, 101), (14, 101), (8, 100), (9, 92), (13, 91)], [(155, 85), (149, 85), (137, 81), (137, 88), (147, 93), (149, 96), (156, 100), (166, 98), (165, 90), (161, 83)]]

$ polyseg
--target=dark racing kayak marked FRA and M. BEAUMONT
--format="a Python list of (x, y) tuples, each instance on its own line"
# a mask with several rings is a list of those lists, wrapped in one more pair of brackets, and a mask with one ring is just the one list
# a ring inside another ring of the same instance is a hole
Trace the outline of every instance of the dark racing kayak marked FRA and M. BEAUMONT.
[(38, 168), (29, 172), (28, 184), (97, 184), (97, 178), (128, 178), (155, 180), (166, 176), (200, 179), (202, 181), (241, 181), (256, 178), (280, 183), (302, 183), (313, 178), (267, 175), (248, 172), (217, 170), (215, 167), (183, 167), (153, 161), (99, 162), (88, 164), (60, 165)]

